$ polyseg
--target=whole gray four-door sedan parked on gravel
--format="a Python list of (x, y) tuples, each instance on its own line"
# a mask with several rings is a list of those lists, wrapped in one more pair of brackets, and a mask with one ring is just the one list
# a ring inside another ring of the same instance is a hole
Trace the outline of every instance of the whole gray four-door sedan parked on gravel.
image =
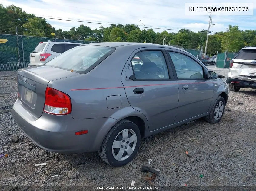
[[(39, 147), (130, 162), (141, 138), (204, 117), (218, 123), (228, 87), (190, 53), (148, 43), (81, 45), (18, 70), (12, 115)], [(171, 143), (170, 143), (171, 144)]]

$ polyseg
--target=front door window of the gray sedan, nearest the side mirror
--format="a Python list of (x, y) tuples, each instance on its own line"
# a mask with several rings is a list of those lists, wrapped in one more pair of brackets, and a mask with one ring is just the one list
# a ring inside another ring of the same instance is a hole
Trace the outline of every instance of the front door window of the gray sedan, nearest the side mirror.
[(194, 59), (181, 53), (169, 52), (178, 79), (202, 79), (203, 68)]

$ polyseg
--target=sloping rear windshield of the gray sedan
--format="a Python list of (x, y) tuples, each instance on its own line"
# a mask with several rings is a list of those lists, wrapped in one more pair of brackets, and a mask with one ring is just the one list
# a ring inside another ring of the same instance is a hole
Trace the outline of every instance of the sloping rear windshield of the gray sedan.
[(87, 73), (115, 51), (115, 48), (97, 45), (82, 45), (72, 48), (45, 65), (77, 73)]

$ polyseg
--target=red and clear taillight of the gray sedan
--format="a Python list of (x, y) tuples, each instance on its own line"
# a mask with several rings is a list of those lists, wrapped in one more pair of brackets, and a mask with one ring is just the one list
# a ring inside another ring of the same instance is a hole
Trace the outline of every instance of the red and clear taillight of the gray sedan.
[(54, 115), (67, 115), (71, 113), (72, 105), (70, 97), (53, 88), (46, 88), (44, 112)]

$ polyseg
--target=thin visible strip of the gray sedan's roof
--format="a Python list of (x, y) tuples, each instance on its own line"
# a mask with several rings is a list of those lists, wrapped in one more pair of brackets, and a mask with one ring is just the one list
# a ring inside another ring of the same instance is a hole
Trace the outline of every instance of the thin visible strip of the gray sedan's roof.
[(153, 44), (153, 43), (130, 43), (130, 42), (104, 42), (104, 43), (90, 43), (86, 45), (99, 45), (99, 46), (109, 46), (112, 48), (116, 48), (119, 46), (133, 46), (136, 48), (143, 48), (143, 47), (159, 47), (159, 48), (172, 48), (177, 50), (182, 50), (179, 48), (176, 48), (174, 46), (168, 46), (168, 45), (161, 45), (161, 44)]

